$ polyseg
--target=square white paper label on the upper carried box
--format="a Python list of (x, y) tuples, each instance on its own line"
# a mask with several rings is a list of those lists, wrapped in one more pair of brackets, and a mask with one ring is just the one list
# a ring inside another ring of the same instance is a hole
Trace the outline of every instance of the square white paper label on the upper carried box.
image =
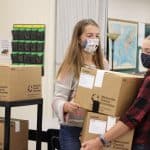
[(79, 86), (92, 89), (95, 77), (86, 73), (80, 74)]

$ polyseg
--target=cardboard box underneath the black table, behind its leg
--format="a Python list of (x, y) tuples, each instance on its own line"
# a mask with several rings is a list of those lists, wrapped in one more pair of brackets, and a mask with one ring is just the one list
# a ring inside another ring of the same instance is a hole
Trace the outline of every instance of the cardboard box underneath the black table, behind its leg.
[[(11, 119), (10, 150), (28, 150), (28, 121)], [(4, 148), (4, 121), (0, 119), (0, 150)]]

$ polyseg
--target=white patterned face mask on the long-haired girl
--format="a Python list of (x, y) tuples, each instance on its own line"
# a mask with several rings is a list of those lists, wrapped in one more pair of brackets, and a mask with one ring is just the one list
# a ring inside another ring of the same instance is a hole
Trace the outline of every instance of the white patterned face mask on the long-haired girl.
[(87, 39), (83, 43), (85, 52), (94, 53), (99, 45), (99, 39)]

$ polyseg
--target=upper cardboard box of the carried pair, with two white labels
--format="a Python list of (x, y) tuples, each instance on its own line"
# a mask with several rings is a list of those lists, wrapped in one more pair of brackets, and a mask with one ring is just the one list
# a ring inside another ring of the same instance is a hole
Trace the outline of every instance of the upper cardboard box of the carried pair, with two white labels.
[(96, 99), (98, 112), (121, 116), (136, 98), (142, 81), (142, 76), (82, 68), (74, 102), (91, 111)]

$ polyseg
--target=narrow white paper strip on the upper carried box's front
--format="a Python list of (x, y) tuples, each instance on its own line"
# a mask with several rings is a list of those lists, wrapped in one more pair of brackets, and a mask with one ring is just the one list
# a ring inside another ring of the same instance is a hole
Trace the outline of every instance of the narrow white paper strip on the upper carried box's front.
[(104, 70), (97, 70), (96, 77), (95, 77), (95, 83), (94, 83), (95, 87), (102, 87), (104, 74), (105, 74)]

